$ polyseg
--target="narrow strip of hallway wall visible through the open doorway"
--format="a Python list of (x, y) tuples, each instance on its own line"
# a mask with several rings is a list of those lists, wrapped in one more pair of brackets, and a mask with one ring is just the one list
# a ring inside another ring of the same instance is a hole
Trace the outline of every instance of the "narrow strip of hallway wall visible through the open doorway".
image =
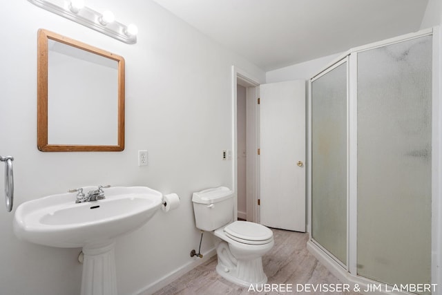
[(247, 129), (247, 113), (246, 113), (246, 88), (237, 85), (236, 100), (237, 100), (237, 116), (236, 129), (238, 137), (238, 217), (247, 219), (247, 145), (246, 145), (246, 129)]

